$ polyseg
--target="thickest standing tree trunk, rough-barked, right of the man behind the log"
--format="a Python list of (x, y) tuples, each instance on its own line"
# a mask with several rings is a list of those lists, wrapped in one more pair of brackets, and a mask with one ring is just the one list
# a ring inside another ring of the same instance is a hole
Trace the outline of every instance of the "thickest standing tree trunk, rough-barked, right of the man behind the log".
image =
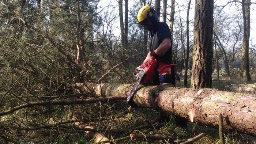
[(196, 0), (191, 88), (211, 88), (213, 0)]

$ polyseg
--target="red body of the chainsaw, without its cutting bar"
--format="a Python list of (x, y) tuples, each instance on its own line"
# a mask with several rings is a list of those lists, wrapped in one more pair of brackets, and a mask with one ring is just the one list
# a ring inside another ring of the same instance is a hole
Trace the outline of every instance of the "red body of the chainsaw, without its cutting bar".
[[(147, 86), (150, 81), (152, 80), (153, 76), (155, 75), (155, 67), (157, 66), (157, 59), (153, 59), (151, 64), (149, 64), (148, 62), (143, 63), (142, 65), (140, 65), (140, 71), (143, 71), (144, 74), (142, 75), (142, 77), (137, 77), (140, 78), (140, 84), (143, 86)], [(138, 75), (140, 76), (140, 75)]]

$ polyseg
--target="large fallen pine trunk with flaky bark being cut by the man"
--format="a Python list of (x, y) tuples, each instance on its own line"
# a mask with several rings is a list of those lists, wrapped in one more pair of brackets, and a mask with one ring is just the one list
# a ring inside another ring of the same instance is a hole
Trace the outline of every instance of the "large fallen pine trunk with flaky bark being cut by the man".
[[(128, 95), (130, 85), (98, 84), (95, 93), (101, 96)], [(134, 103), (138, 107), (154, 108), (166, 114), (179, 115), (192, 122), (218, 128), (222, 114), (223, 128), (256, 136), (256, 96), (214, 89), (160, 86), (140, 87)]]

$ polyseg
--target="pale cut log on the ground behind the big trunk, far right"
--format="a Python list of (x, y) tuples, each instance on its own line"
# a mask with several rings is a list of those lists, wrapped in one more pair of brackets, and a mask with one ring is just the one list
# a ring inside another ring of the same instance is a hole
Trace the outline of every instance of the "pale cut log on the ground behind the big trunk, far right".
[(249, 92), (255, 94), (256, 83), (255, 84), (231, 84), (230, 86), (225, 86), (225, 90), (233, 92)]

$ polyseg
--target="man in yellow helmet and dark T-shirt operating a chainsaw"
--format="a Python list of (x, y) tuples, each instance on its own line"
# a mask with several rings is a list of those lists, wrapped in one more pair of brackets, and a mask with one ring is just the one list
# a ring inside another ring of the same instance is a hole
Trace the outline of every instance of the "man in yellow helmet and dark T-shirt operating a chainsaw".
[[(157, 12), (150, 6), (145, 5), (142, 7), (137, 15), (140, 29), (143, 31), (149, 31), (149, 41), (147, 47), (149, 53), (143, 63), (150, 63), (154, 58), (157, 59), (157, 66), (155, 67), (155, 75), (152, 79), (153, 85), (159, 85), (160, 83), (173, 83), (175, 84), (174, 69), (173, 75), (169, 73), (159, 73), (163, 65), (173, 64), (172, 62), (172, 37), (169, 26), (166, 23), (159, 22), (159, 16)], [(137, 71), (138, 72), (138, 71)], [(169, 80), (166, 75), (169, 74)], [(160, 80), (159, 80), (160, 78)], [(167, 79), (167, 80), (161, 80)], [(187, 119), (175, 116), (176, 125), (182, 128), (187, 127)], [(169, 117), (163, 117), (167, 120)]]

